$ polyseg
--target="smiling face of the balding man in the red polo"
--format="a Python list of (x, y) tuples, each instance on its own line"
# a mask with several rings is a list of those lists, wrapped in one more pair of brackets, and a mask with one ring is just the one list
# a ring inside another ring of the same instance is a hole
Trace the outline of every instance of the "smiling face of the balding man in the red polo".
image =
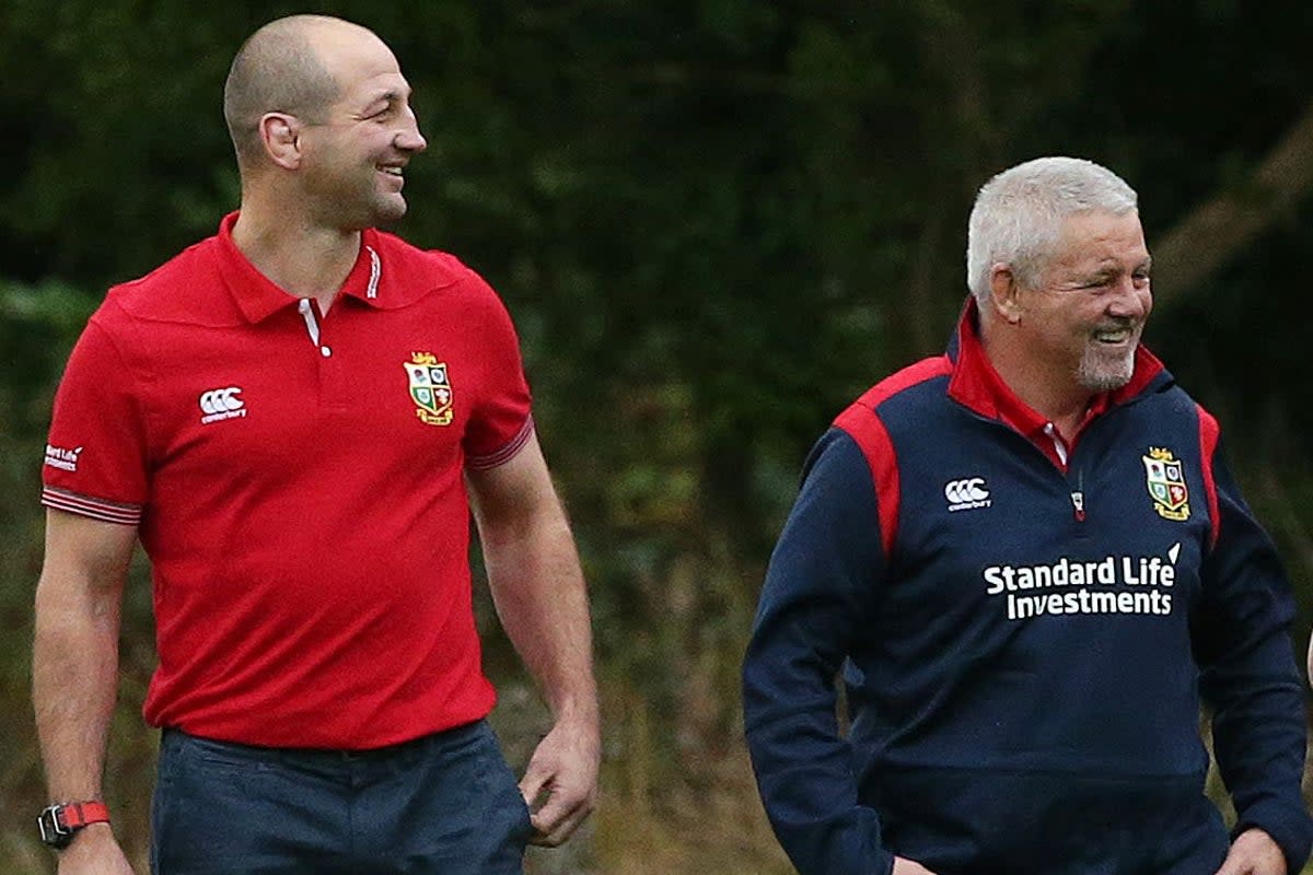
[(312, 218), (361, 230), (406, 215), (403, 171), (427, 143), (397, 58), (362, 28), (326, 28), (312, 43), (337, 100), (322, 119), (302, 121), (303, 186)]

